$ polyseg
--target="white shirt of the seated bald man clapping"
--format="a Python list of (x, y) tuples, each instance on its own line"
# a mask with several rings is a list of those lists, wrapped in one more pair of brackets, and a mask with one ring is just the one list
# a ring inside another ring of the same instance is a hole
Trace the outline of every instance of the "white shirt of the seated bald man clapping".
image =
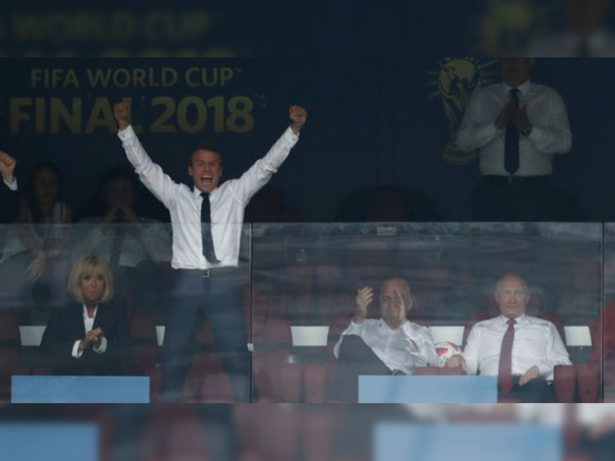
[(407, 321), (399, 328), (391, 329), (382, 319), (365, 319), (360, 325), (352, 321), (335, 345), (335, 358), (339, 358), (344, 336), (350, 334), (360, 336), (391, 371), (412, 374), (416, 366), (435, 366), (438, 363), (434, 339), (426, 326)]

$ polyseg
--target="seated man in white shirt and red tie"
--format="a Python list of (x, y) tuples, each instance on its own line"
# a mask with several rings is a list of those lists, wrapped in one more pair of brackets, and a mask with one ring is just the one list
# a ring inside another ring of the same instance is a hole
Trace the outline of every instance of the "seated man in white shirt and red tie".
[(525, 313), (531, 294), (518, 275), (501, 278), (495, 296), (502, 315), (474, 325), (463, 355), (451, 357), (446, 366), (498, 376), (499, 398), (549, 403), (555, 366), (571, 364), (557, 328)]

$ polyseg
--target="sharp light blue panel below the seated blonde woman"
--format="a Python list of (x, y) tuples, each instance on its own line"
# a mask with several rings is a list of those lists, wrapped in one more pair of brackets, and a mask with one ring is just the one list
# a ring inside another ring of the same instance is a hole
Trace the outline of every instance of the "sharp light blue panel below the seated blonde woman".
[(149, 377), (13, 376), (11, 403), (149, 403)]

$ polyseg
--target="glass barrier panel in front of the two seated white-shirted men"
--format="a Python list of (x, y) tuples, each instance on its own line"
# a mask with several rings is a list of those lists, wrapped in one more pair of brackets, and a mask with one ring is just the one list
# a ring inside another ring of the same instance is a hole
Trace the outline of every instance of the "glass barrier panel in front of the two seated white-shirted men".
[[(590, 326), (600, 315), (602, 232), (600, 224), (255, 225), (253, 400), (597, 401), (601, 337)], [(510, 388), (489, 380), (507, 330), (498, 317), (523, 312), (532, 318), (510, 339)], [(446, 367), (462, 349), (466, 360)], [(496, 384), (508, 391), (496, 394)]]

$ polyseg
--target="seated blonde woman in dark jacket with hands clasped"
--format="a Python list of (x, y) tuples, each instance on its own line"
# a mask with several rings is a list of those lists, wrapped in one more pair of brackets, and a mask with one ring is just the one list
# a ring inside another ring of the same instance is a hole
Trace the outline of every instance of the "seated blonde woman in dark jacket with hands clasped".
[(62, 375), (117, 376), (130, 355), (124, 304), (113, 299), (113, 274), (98, 256), (85, 256), (68, 279), (73, 302), (52, 313), (41, 347)]

